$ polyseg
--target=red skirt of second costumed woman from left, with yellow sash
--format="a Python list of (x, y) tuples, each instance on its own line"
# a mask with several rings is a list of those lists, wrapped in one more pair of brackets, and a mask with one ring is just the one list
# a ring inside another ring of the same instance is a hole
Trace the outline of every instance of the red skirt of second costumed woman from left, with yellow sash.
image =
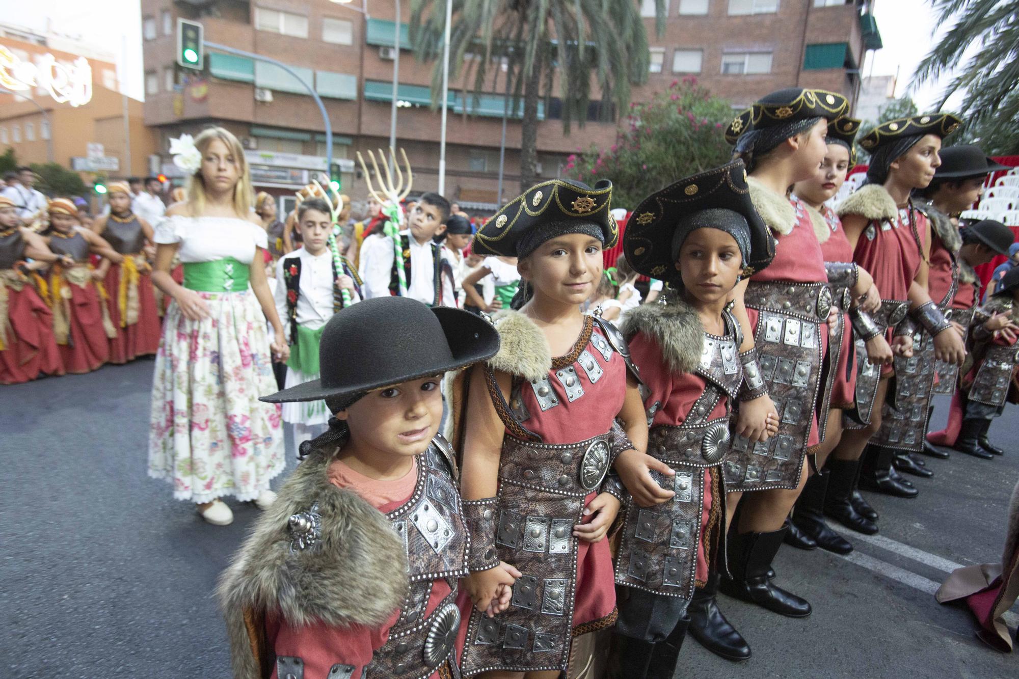
[[(85, 284), (61, 280), (59, 291), (50, 294), (56, 304), (62, 305), (55, 318), (55, 333), (60, 347), (64, 369), (74, 374), (92, 372), (110, 358), (109, 319), (105, 302), (91, 278)], [(62, 330), (62, 322), (66, 328)]]

